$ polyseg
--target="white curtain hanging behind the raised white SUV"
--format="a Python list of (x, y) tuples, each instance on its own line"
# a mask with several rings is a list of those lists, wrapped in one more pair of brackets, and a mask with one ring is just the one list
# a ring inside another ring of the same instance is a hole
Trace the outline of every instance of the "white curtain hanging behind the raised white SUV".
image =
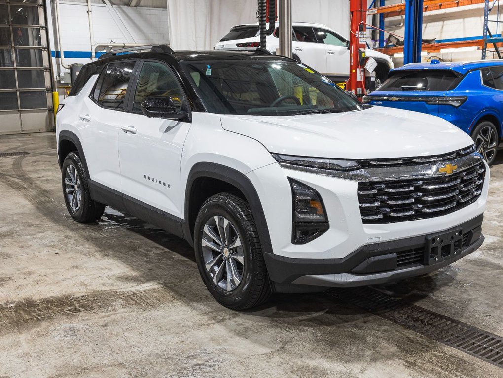
[[(256, 23), (257, 0), (166, 0), (174, 49), (208, 50), (234, 25)], [(292, 20), (325, 24), (349, 37), (349, 0), (292, 0)]]

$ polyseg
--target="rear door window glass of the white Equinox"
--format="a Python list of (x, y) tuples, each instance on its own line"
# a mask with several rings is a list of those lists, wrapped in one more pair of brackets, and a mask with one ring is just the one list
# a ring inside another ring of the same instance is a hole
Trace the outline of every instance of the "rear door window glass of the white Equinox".
[(135, 62), (110, 63), (100, 75), (94, 99), (104, 107), (122, 109)]

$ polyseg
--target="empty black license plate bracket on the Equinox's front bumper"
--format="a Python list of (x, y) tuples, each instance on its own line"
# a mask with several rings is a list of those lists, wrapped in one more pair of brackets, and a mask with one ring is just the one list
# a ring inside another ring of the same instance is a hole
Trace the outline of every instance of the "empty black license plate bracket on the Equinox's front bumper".
[(451, 260), (461, 253), (463, 230), (461, 228), (426, 236), (425, 265)]

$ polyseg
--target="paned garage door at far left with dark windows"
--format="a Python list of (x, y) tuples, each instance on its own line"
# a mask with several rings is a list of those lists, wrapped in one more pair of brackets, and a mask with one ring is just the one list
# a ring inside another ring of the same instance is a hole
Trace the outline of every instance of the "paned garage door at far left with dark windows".
[(0, 134), (49, 131), (44, 0), (0, 0)]

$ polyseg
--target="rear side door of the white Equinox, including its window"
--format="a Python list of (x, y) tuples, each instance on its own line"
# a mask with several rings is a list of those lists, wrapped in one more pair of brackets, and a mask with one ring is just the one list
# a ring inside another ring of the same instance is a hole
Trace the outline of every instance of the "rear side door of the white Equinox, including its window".
[(91, 179), (120, 190), (117, 140), (136, 61), (108, 64), (78, 114), (81, 143)]

